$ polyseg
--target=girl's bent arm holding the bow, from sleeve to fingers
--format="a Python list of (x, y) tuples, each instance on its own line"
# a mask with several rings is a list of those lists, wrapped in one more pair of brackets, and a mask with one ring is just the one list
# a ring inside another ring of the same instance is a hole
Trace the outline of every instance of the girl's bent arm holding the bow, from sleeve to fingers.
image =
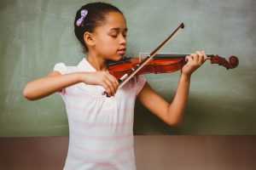
[(48, 77), (28, 82), (23, 90), (23, 95), (30, 100), (42, 99), (78, 82), (101, 85), (106, 89), (109, 96), (115, 94), (119, 85), (116, 78), (109, 74), (108, 71), (75, 72), (65, 75), (61, 75), (58, 71), (53, 71)]

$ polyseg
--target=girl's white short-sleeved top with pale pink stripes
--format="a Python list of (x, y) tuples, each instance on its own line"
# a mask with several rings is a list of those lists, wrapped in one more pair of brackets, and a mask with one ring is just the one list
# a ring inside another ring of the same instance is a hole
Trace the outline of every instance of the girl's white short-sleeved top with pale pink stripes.
[[(79, 65), (55, 65), (68, 74), (96, 71), (87, 59)], [(110, 98), (104, 88), (83, 82), (62, 90), (69, 125), (69, 144), (64, 170), (136, 170), (133, 138), (134, 104), (146, 79), (138, 76)]]

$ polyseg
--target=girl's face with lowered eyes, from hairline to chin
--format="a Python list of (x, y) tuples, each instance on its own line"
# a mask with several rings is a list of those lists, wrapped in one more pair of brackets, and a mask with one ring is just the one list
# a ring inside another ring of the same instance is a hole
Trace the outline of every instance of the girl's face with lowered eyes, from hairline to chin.
[(94, 31), (96, 54), (104, 59), (119, 60), (125, 55), (127, 27), (123, 14), (110, 12), (102, 26)]

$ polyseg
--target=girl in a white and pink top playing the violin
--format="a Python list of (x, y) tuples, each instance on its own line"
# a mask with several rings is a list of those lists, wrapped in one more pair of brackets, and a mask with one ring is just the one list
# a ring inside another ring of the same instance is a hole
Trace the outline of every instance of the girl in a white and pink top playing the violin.
[[(58, 92), (66, 105), (69, 145), (64, 169), (136, 169), (133, 111), (138, 98), (170, 126), (182, 121), (189, 82), (207, 59), (203, 51), (187, 56), (172, 102), (156, 94), (143, 76), (119, 82), (108, 73), (107, 60), (125, 55), (127, 26), (122, 12), (108, 3), (88, 3), (74, 20), (74, 32), (87, 58), (78, 65), (58, 63), (49, 76), (28, 82), (26, 99), (42, 99)], [(106, 91), (110, 98), (102, 95)]]

